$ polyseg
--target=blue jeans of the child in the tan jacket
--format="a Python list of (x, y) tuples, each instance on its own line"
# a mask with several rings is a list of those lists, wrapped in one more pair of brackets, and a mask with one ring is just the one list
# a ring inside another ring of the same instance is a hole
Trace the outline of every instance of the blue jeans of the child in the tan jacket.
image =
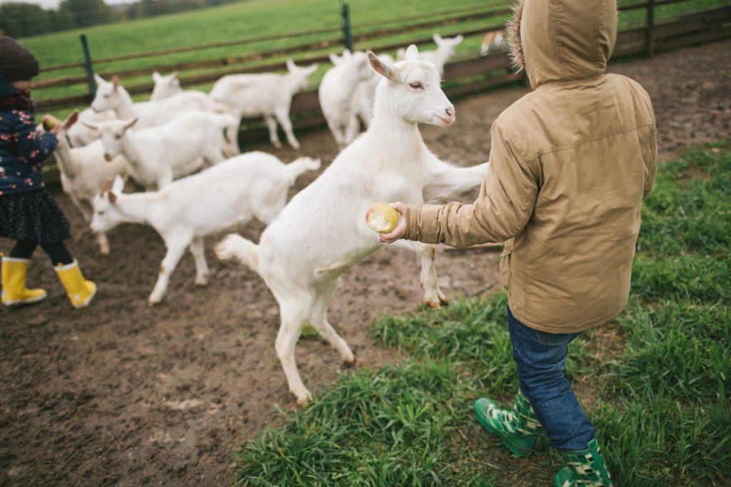
[(596, 430), (566, 378), (569, 343), (579, 334), (534, 330), (516, 320), (510, 307), (507, 323), (520, 391), (530, 400), (549, 445), (557, 450), (586, 450)]

